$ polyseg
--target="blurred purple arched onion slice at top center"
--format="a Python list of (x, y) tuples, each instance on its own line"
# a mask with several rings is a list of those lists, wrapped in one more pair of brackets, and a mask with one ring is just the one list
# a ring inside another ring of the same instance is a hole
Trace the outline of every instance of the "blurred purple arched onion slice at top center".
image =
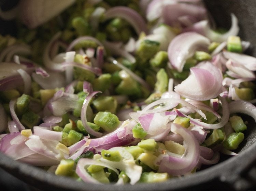
[(134, 11), (132, 8), (125, 6), (115, 6), (109, 8), (105, 12), (105, 19), (111, 19), (115, 17), (125, 19), (127, 22), (129, 22), (138, 35), (142, 31), (147, 33), (147, 25), (144, 19), (142, 18), (142, 16), (140, 16), (138, 12)]

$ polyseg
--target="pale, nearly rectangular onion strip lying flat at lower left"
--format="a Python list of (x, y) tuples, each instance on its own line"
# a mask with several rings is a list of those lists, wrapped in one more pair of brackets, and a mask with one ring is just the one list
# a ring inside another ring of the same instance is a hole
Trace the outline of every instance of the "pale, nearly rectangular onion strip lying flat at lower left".
[(62, 132), (51, 131), (48, 129), (41, 128), (39, 126), (33, 127), (34, 135), (39, 136), (41, 139), (61, 141)]

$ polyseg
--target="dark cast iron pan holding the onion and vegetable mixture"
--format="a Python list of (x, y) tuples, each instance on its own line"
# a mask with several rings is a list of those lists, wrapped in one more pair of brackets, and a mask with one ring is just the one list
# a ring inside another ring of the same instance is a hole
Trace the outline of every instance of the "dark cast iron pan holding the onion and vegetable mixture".
[[(3, 0), (6, 2), (6, 0)], [(2, 1), (2, 2), (3, 2)], [(10, 0), (8, 1), (11, 2)], [(256, 1), (255, 0), (205, 0), (205, 3), (221, 27), (230, 27), (230, 13), (239, 19), (240, 36), (256, 46)], [(9, 6), (10, 7), (10, 6)], [(0, 22), (3, 26), (3, 22)], [(2, 26), (1, 32), (3, 31)], [(6, 25), (5, 25), (6, 26)], [(255, 49), (247, 52), (256, 56)], [(163, 183), (137, 185), (95, 185), (77, 182), (71, 178), (55, 176), (44, 170), (14, 161), (0, 153), (0, 166), (25, 183), (42, 190), (84, 190), (84, 191), (178, 191), (178, 190), (255, 190), (256, 188), (256, 124), (245, 116), (248, 129), (245, 140), (236, 152), (238, 156), (222, 156), (220, 163), (205, 168), (194, 175), (172, 178)], [(1, 188), (0, 188), (1, 189)]]

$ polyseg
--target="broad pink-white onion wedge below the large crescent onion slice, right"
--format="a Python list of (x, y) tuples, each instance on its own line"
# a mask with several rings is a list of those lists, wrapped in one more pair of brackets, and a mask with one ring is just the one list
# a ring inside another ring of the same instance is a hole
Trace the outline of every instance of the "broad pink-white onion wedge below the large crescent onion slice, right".
[(190, 68), (191, 74), (174, 91), (191, 100), (210, 100), (222, 91), (222, 73), (213, 64), (206, 62)]

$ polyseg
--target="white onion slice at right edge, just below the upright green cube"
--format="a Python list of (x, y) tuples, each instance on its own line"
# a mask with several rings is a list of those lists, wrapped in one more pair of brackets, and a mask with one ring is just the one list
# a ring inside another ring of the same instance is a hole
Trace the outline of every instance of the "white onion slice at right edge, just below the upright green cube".
[(255, 71), (256, 70), (256, 58), (246, 54), (239, 54), (235, 52), (223, 51), (223, 55), (227, 59), (231, 59), (234, 62), (244, 65), (247, 69)]

